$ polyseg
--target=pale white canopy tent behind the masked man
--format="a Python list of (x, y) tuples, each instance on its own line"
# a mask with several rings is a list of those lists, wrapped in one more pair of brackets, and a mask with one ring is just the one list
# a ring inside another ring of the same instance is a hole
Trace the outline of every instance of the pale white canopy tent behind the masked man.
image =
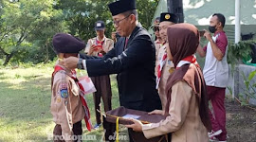
[[(256, 0), (236, 1), (240, 2), (238, 6), (240, 6), (241, 33), (256, 33)], [(199, 30), (208, 29), (213, 13), (224, 14), (226, 17), (224, 30), (231, 43), (235, 41), (235, 9), (235, 0), (183, 0), (184, 22), (198, 27)], [(167, 0), (160, 0), (155, 10), (155, 17), (166, 11)], [(150, 31), (153, 33), (152, 29)], [(256, 39), (256, 35), (254, 39)]]

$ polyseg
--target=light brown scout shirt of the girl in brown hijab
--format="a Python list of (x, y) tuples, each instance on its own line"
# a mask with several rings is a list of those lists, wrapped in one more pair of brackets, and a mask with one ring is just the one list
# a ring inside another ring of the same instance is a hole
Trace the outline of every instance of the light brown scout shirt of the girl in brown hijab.
[(172, 142), (209, 142), (207, 128), (199, 115), (193, 78), (194, 70), (188, 70), (183, 80), (174, 83), (169, 115), (159, 123), (143, 125), (142, 131), (146, 138), (172, 133)]

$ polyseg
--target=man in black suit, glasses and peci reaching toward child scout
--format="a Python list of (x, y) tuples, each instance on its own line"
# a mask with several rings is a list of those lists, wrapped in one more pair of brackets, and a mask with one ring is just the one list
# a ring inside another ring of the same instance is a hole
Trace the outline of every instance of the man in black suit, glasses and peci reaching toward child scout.
[(102, 58), (80, 55), (64, 59), (64, 66), (87, 70), (90, 77), (118, 74), (120, 105), (151, 112), (161, 109), (155, 89), (155, 45), (138, 23), (135, 0), (119, 0), (108, 5), (114, 27), (121, 36)]

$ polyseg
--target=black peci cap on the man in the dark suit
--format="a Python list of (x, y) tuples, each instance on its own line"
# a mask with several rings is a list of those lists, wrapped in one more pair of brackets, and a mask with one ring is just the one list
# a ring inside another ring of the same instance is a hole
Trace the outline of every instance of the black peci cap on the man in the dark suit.
[(137, 9), (136, 0), (119, 0), (108, 5), (112, 16), (118, 15), (119, 13), (126, 12), (128, 10)]

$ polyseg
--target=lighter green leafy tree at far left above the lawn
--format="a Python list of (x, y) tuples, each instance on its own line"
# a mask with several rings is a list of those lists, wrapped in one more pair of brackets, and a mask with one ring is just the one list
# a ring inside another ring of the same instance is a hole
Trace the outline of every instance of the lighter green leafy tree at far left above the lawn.
[(63, 12), (53, 6), (53, 0), (4, 1), (0, 33), (4, 65), (12, 57), (27, 55), (35, 45), (46, 45), (56, 32), (64, 30)]

